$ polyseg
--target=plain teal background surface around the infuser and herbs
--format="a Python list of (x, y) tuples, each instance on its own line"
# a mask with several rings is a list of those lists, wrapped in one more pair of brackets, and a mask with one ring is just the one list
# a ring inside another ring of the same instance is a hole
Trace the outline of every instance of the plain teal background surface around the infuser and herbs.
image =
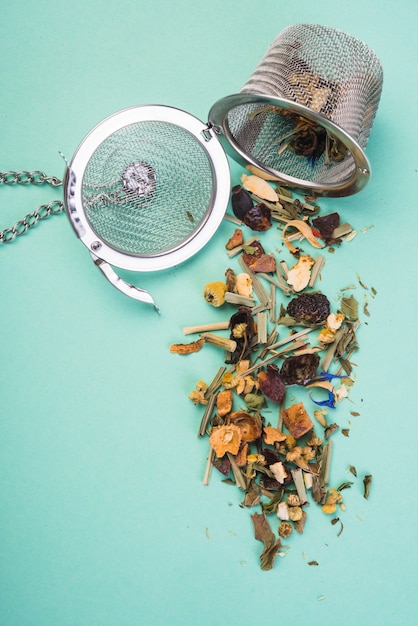
[[(59, 152), (71, 158), (128, 106), (205, 120), (276, 34), (302, 21), (363, 39), (385, 73), (372, 180), (321, 203), (359, 231), (327, 256), (324, 292), (356, 283), (362, 303), (357, 274), (377, 290), (362, 316), (358, 380), (337, 409), (350, 437), (336, 436), (332, 465), (338, 484), (349, 464), (373, 474), (370, 498), (361, 479), (346, 492), (340, 537), (311, 506), (287, 556), (260, 571), (242, 495), (217, 475), (202, 485), (208, 443), (187, 394), (211, 379), (219, 352), (169, 353), (184, 326), (223, 318), (201, 289), (223, 277), (231, 225), (185, 264), (133, 278), (159, 317), (112, 289), (67, 218), (51, 218), (0, 248), (2, 626), (417, 623), (415, 0), (3, 3), (0, 170), (61, 177)], [(231, 163), (233, 182), (240, 173)], [(0, 228), (55, 197), (3, 185)]]

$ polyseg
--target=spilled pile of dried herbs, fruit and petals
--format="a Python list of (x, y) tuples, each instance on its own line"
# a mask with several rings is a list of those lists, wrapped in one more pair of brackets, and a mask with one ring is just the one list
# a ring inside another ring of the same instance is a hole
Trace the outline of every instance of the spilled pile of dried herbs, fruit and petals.
[[(198, 434), (209, 438), (204, 483), (216, 468), (242, 490), (243, 506), (257, 507), (251, 516), (254, 536), (263, 543), (261, 568), (267, 570), (281, 540), (303, 532), (309, 501), (334, 516), (335, 524), (344, 510), (342, 491), (352, 484), (330, 486), (333, 435), (340, 428), (329, 414), (354, 384), (358, 302), (342, 289), (333, 310), (318, 288), (325, 257), (303, 252), (295, 243), (332, 250), (355, 231), (341, 225), (337, 213), (319, 215), (315, 198), (302, 201), (256, 176), (243, 175), (241, 182), (232, 190), (237, 219), (229, 218), (236, 222), (226, 242), (229, 266), (223, 280), (203, 288), (209, 305), (232, 314), (215, 324), (184, 328), (199, 338), (170, 349), (177, 354), (206, 344), (220, 349), (222, 366), (189, 395), (202, 407)], [(259, 235), (244, 240), (242, 224), (260, 233), (274, 223), (292, 265), (265, 250)], [(232, 259), (239, 267), (230, 267)], [(296, 401), (299, 391), (302, 400)], [(348, 436), (348, 429), (341, 432)], [(350, 471), (356, 476), (355, 468)], [(368, 475), (365, 497), (370, 482)]]

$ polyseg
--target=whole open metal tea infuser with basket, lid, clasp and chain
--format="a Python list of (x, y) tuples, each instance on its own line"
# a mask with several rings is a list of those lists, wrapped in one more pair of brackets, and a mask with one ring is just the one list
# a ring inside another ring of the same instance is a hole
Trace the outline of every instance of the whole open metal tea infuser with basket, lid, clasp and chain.
[(253, 173), (305, 193), (347, 196), (364, 188), (364, 149), (382, 82), (366, 44), (324, 26), (290, 26), (241, 91), (212, 106), (208, 122), (164, 105), (132, 107), (87, 135), (63, 183), (40, 171), (0, 174), (5, 184), (64, 186), (64, 202), (38, 207), (0, 232), (0, 243), (64, 208), (103, 275), (157, 308), (151, 294), (113, 267), (166, 269), (209, 241), (230, 198), (226, 152)]

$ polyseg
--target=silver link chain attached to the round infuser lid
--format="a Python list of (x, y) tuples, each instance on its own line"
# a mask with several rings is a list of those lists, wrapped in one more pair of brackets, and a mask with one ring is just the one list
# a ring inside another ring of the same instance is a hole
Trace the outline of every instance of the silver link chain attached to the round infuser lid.
[[(51, 187), (60, 187), (62, 181), (56, 176), (47, 176), (40, 170), (34, 172), (0, 172), (0, 184), (4, 185), (51, 185)], [(50, 215), (57, 215), (64, 209), (64, 203), (61, 200), (52, 200), (48, 204), (41, 204), (32, 213), (28, 213), (25, 217), (11, 228), (0, 231), (0, 243), (10, 243), (19, 235), (24, 235), (29, 228), (33, 228), (40, 220), (44, 220)]]

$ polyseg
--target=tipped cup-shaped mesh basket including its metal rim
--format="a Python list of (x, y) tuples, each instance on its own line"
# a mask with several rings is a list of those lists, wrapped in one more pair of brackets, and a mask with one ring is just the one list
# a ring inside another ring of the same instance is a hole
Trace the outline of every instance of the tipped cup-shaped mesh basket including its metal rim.
[(382, 82), (366, 44), (298, 24), (279, 33), (241, 92), (216, 103), (209, 121), (244, 165), (292, 187), (348, 195), (369, 178), (364, 148)]

